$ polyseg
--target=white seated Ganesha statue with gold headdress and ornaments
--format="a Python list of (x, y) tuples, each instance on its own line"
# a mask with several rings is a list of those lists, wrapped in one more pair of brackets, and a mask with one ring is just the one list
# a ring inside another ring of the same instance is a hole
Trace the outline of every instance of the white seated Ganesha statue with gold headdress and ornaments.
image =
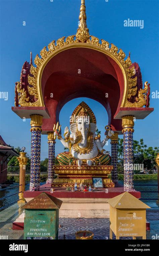
[(69, 152), (57, 155), (60, 165), (107, 165), (110, 156), (103, 147), (114, 132), (109, 130), (108, 135), (101, 141), (96, 130), (93, 111), (85, 102), (81, 102), (70, 118), (70, 132), (65, 127), (64, 138), (57, 136), (63, 146), (69, 149)]

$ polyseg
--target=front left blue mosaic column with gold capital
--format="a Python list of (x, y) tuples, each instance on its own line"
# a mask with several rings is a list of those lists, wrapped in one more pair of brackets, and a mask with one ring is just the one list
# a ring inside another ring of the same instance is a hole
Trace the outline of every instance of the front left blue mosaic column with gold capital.
[(40, 188), (40, 150), (41, 150), (41, 127), (43, 116), (31, 115), (31, 176), (30, 191)]

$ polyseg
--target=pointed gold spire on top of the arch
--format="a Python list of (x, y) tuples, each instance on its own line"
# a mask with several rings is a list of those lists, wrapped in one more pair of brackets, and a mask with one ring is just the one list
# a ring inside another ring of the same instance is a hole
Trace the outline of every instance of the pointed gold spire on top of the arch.
[(80, 24), (77, 29), (76, 38), (79, 42), (86, 42), (90, 38), (89, 29), (87, 28), (86, 20), (86, 6), (85, 0), (81, 0), (81, 8), (80, 8), (80, 16), (79, 16)]

